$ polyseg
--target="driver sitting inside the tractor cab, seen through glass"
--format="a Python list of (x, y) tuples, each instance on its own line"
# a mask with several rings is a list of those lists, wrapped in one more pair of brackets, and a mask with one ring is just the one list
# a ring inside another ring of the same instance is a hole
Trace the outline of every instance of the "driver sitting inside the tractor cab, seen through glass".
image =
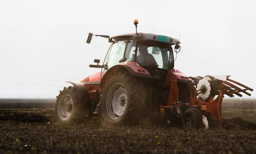
[(140, 46), (139, 48), (140, 55), (138, 56), (137, 62), (144, 66), (153, 66), (157, 67), (157, 61), (148, 53), (148, 46)]

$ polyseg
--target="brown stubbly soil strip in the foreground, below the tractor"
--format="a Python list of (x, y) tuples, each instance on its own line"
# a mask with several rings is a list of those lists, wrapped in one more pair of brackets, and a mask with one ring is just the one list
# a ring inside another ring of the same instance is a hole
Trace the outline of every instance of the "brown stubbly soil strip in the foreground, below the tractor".
[(1, 122), (1, 153), (254, 153), (255, 131)]

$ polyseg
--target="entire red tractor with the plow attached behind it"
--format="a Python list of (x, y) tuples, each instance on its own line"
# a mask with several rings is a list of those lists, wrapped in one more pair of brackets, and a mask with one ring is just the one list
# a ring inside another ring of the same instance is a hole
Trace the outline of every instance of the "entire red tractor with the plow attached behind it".
[[(136, 33), (94, 35), (111, 43), (103, 64), (94, 59), (97, 64), (89, 65), (102, 70), (80, 82), (67, 81), (73, 86), (60, 90), (55, 103), (58, 122), (82, 122), (99, 115), (106, 124), (134, 125), (148, 115), (153, 123), (192, 128), (204, 127), (204, 117), (215, 118), (223, 127), (224, 94), (241, 97), (241, 93), (250, 96), (247, 90), (253, 91), (230, 76), (186, 76), (174, 68), (173, 50), (180, 51), (180, 41), (137, 33), (138, 21), (134, 20), (134, 24)], [(92, 37), (89, 33), (88, 44)]]

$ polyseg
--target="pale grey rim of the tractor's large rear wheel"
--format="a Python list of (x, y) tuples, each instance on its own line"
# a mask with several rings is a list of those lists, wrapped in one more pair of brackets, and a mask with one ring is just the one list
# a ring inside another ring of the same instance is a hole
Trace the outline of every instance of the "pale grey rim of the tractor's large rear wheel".
[(111, 119), (119, 119), (125, 112), (127, 106), (127, 92), (125, 87), (120, 84), (114, 84), (107, 96), (107, 113)]

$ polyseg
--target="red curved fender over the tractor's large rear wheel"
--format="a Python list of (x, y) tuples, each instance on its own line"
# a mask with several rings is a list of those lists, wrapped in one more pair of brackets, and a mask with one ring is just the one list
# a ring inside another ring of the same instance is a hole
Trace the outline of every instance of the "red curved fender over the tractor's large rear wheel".
[(110, 79), (112, 75), (114, 75), (116, 72), (120, 70), (127, 70), (129, 73), (131, 73), (134, 76), (142, 77), (142, 78), (152, 78), (151, 75), (148, 73), (147, 70), (145, 70), (143, 67), (141, 67), (139, 64), (135, 62), (122, 62), (120, 64), (117, 64), (113, 67), (111, 67), (102, 77), (102, 80), (99, 84), (99, 87), (104, 87), (105, 82)]

